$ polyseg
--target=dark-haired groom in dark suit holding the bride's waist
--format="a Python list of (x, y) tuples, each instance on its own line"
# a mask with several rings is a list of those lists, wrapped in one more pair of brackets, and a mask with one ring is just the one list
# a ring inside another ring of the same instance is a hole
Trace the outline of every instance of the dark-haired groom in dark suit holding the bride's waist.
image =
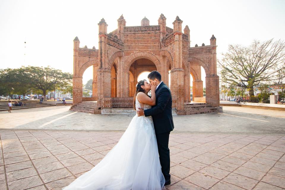
[(152, 116), (156, 140), (158, 145), (159, 160), (161, 170), (165, 178), (165, 185), (170, 184), (170, 155), (168, 141), (170, 131), (173, 130), (174, 124), (172, 119), (172, 96), (170, 89), (161, 81), (161, 75), (157, 71), (152, 71), (148, 75), (148, 80), (157, 81), (156, 87), (156, 104), (151, 109), (143, 110), (139, 108), (137, 115)]

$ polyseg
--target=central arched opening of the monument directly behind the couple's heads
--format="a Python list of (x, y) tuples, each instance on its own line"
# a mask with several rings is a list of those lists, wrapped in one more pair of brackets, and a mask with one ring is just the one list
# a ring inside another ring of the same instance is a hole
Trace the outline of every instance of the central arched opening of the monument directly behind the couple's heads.
[(157, 70), (155, 64), (151, 60), (146, 58), (137, 59), (131, 64), (129, 68), (129, 97), (134, 96), (137, 84), (137, 82), (134, 81), (139, 80), (139, 75), (143, 77), (142, 79), (148, 80), (147, 79), (148, 74), (146, 75), (146, 72), (149, 73), (154, 70)]

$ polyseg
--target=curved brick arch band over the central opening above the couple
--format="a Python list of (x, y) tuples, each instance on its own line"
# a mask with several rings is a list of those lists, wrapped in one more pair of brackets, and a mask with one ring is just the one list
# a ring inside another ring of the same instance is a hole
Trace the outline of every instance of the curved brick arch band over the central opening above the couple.
[(132, 63), (138, 59), (141, 59), (141, 58), (145, 58), (145, 59), (149, 59), (151, 60), (154, 65), (156, 66), (156, 69), (159, 70), (160, 69), (160, 61), (158, 60), (158, 58), (156, 56), (154, 56), (153, 54), (151, 53), (148, 53), (148, 52), (137, 52), (137, 53), (134, 53), (132, 55), (130, 55), (127, 60), (125, 61), (125, 64), (124, 64), (124, 72), (127, 72), (129, 71)]

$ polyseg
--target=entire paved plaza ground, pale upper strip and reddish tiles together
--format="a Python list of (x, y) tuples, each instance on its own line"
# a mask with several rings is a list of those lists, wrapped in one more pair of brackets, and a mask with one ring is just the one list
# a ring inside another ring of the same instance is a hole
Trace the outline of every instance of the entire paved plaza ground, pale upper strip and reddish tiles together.
[[(0, 112), (0, 189), (61, 189), (114, 147), (131, 118), (67, 106)], [(174, 116), (167, 189), (285, 189), (284, 121), (283, 111), (244, 107)]]

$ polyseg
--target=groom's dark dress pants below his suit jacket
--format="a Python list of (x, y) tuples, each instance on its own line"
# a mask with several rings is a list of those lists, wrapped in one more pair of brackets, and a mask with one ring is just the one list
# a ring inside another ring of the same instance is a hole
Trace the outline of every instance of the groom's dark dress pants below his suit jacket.
[(156, 134), (159, 160), (165, 181), (170, 180), (170, 153), (168, 148), (170, 132)]

